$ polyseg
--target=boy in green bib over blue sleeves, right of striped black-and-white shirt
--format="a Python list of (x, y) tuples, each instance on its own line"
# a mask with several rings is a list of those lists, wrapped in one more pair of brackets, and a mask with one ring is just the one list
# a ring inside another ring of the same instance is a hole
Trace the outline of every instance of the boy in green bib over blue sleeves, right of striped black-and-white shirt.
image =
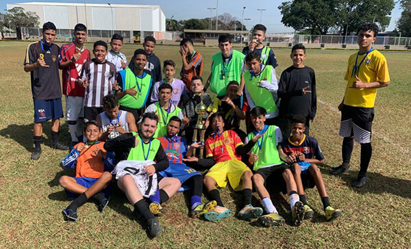
[(135, 65), (133, 69), (127, 68), (119, 72), (116, 98), (119, 99), (120, 109), (132, 113), (134, 119), (138, 120), (150, 96), (153, 81), (144, 69), (147, 64), (146, 51), (137, 49), (132, 60)]

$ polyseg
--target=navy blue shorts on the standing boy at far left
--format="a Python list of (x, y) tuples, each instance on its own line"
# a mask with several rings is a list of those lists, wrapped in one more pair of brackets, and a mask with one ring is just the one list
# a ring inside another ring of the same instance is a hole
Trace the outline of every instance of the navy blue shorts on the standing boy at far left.
[(63, 117), (62, 99), (34, 101), (34, 122), (45, 122)]

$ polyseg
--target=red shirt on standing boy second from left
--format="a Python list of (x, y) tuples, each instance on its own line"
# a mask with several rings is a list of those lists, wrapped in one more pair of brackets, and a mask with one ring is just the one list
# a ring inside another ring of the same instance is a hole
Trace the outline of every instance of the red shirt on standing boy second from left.
[[(60, 49), (60, 64), (71, 60), (71, 57), (73, 57), (74, 53), (78, 53), (78, 50), (74, 42), (63, 44)], [(80, 55), (79, 60), (76, 60), (75, 63), (70, 64), (62, 71), (64, 95), (84, 97), (84, 88), (79, 86), (77, 81), (82, 73), (84, 63), (91, 58), (90, 51), (83, 48), (80, 51)]]

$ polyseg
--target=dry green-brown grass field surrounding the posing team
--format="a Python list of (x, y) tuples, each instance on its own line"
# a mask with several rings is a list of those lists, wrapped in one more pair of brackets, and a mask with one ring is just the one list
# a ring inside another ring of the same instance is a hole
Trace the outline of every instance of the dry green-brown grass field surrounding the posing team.
[[(50, 122), (45, 124), (45, 144), (38, 161), (29, 159), (33, 143), (33, 101), (29, 73), (23, 71), (27, 42), (0, 42), (0, 248), (410, 248), (411, 247), (411, 53), (384, 52), (390, 77), (388, 88), (378, 90), (373, 125), (373, 158), (369, 182), (362, 189), (350, 187), (359, 168), (356, 144), (351, 171), (329, 174), (340, 163), (342, 139), (338, 136), (347, 60), (352, 51), (308, 50), (306, 65), (317, 79), (318, 112), (311, 135), (325, 155), (321, 167), (333, 207), (343, 210), (335, 222), (325, 222), (316, 189), (306, 193), (314, 218), (293, 227), (290, 222), (262, 228), (255, 221), (236, 217), (218, 223), (188, 218), (184, 195), (164, 205), (161, 237), (148, 239), (133, 220), (132, 206), (123, 196), (112, 196), (104, 213), (94, 202), (79, 208), (77, 222), (64, 222), (61, 211), (69, 205), (58, 179), (73, 170), (60, 167), (65, 152), (51, 146)], [(91, 44), (88, 45), (91, 47)], [(140, 46), (125, 45), (131, 57)], [(217, 48), (198, 48), (205, 57), (204, 77), (210, 73), (211, 55)], [(182, 65), (178, 47), (155, 48), (160, 60)], [(289, 49), (276, 49), (277, 75), (290, 66)], [(63, 105), (64, 106), (64, 105)], [(62, 120), (62, 142), (69, 144)], [(222, 189), (223, 201), (238, 211), (240, 194)], [(260, 205), (257, 194), (253, 203)], [(290, 221), (288, 198), (273, 196), (280, 215)], [(234, 200), (234, 201), (233, 201)]]

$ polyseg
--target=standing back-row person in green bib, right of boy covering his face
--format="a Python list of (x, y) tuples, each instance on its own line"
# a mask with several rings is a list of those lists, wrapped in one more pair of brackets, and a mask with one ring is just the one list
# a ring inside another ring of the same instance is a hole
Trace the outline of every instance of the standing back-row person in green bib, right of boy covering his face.
[[(221, 52), (212, 56), (211, 73), (208, 77), (205, 91), (210, 86), (211, 92), (217, 96), (224, 96), (229, 81), (240, 82), (244, 73), (244, 57), (242, 53), (232, 49), (232, 39), (229, 35), (219, 37), (219, 49)], [(242, 92), (243, 86), (240, 86)]]

